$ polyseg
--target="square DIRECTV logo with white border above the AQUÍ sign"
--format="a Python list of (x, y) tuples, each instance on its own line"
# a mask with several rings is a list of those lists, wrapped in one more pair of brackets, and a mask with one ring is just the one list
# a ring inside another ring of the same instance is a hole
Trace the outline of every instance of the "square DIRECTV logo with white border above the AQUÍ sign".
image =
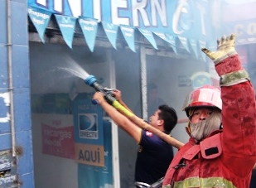
[(79, 114), (79, 137), (98, 139), (98, 114), (80, 113)]

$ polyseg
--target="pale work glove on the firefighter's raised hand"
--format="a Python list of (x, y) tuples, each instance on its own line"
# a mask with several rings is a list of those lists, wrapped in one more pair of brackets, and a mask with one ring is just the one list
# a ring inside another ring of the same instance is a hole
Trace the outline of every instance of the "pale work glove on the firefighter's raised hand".
[(217, 41), (217, 51), (209, 51), (207, 48), (202, 48), (201, 51), (210, 57), (211, 60), (214, 60), (215, 65), (217, 65), (221, 60), (225, 60), (225, 58), (237, 54), (234, 49), (234, 41), (234, 34), (228, 37), (222, 36)]

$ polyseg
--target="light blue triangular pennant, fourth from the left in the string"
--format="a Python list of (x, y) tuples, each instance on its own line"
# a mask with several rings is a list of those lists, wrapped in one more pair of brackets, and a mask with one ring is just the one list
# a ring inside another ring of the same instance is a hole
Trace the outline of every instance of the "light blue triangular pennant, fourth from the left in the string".
[(109, 42), (112, 44), (114, 49), (117, 49), (116, 42), (118, 36), (118, 26), (108, 22), (102, 22), (102, 26), (104, 28), (106, 36), (109, 39)]

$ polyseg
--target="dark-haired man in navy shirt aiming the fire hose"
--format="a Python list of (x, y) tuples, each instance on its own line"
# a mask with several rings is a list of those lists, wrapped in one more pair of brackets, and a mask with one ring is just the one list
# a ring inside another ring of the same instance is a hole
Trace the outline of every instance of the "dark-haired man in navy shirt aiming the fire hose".
[[(121, 92), (118, 89), (114, 90), (114, 95), (120, 104), (128, 108), (123, 103)], [(114, 120), (118, 127), (133, 137), (139, 145), (135, 167), (135, 185), (137, 187), (147, 187), (162, 178), (173, 157), (171, 145), (156, 134), (138, 127), (122, 113), (119, 113), (104, 99), (102, 93), (96, 92), (93, 98), (104, 108), (106, 113), (109, 113), (109, 117)], [(128, 110), (130, 109), (128, 108)], [(149, 118), (150, 125), (167, 134), (171, 133), (176, 123), (176, 111), (167, 105), (160, 105)]]

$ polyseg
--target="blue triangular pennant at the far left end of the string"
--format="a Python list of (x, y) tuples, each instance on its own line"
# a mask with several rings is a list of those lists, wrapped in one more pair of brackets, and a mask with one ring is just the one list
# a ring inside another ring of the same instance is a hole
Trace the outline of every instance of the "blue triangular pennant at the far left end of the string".
[(52, 13), (36, 7), (28, 7), (27, 12), (31, 22), (36, 27), (36, 31), (38, 32), (41, 41), (45, 43), (45, 31)]

